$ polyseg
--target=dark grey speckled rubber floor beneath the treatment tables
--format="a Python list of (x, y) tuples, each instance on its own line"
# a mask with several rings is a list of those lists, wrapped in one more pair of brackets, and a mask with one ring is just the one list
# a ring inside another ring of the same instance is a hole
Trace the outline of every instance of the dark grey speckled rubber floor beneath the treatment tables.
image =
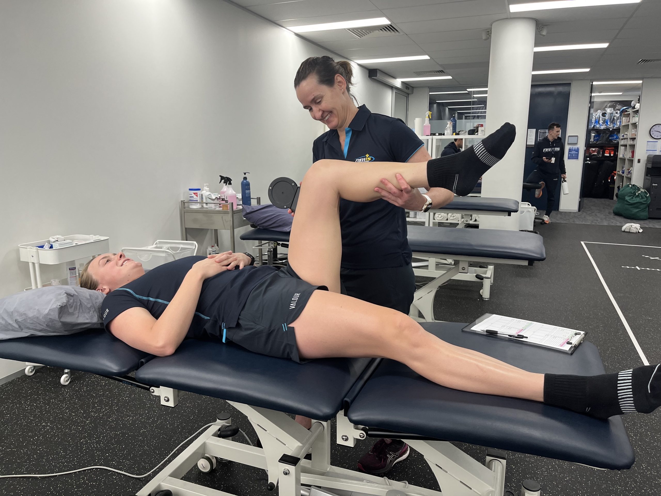
[[(481, 300), (479, 285), (451, 281), (436, 297), (436, 318), (471, 321), (485, 313), (518, 315), (590, 332), (609, 372), (641, 364), (580, 241), (661, 246), (661, 229), (622, 233), (614, 226), (553, 223), (539, 227), (547, 260), (533, 267), (496, 267), (492, 298)], [(652, 363), (661, 361), (656, 338), (661, 310), (658, 288), (661, 249), (588, 243), (614, 298)], [(647, 255), (647, 257), (643, 257)], [(59, 386), (61, 370), (42, 368), (0, 386), (0, 474), (44, 473), (103, 464), (133, 473), (147, 472), (181, 440), (212, 422), (218, 411), (231, 411), (253, 440), (245, 417), (219, 399), (182, 393), (178, 407), (161, 407), (156, 397), (91, 374), (74, 374)], [(604, 472), (525, 454), (510, 453), (506, 488), (516, 491), (523, 479), (542, 484), (545, 496), (656, 495), (661, 487), (661, 412), (625, 417), (637, 453), (631, 470)], [(333, 434), (334, 436), (334, 434)], [(332, 463), (353, 468), (371, 440), (353, 450), (333, 446)], [(484, 448), (463, 446), (483, 460)], [(392, 479), (438, 488), (416, 453), (395, 466)], [(148, 479), (149, 477), (147, 477)], [(184, 477), (239, 495), (272, 495), (260, 470), (222, 465), (211, 474), (191, 470)], [(47, 479), (0, 479), (0, 495), (128, 496), (145, 483), (110, 472), (92, 471)]]

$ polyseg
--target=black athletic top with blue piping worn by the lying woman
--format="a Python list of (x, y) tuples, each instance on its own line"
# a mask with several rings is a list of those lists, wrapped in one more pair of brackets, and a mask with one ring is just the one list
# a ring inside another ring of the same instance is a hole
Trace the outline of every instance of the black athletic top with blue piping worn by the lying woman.
[[(184, 276), (194, 263), (206, 257), (185, 257), (149, 270), (143, 276), (116, 289), (103, 300), (103, 324), (108, 324), (129, 308), (145, 308), (158, 319), (175, 297)], [(223, 329), (234, 327), (249, 294), (274, 267), (243, 267), (224, 270), (202, 283), (200, 300), (186, 338), (222, 338)]]

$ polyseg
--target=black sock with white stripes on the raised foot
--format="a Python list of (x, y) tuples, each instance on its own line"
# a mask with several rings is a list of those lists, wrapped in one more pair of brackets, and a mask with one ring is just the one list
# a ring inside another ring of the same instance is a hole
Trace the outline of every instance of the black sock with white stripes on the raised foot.
[(514, 124), (506, 122), (467, 150), (431, 159), (427, 162), (429, 187), (446, 188), (454, 194), (466, 196), (482, 175), (505, 156), (515, 137)]

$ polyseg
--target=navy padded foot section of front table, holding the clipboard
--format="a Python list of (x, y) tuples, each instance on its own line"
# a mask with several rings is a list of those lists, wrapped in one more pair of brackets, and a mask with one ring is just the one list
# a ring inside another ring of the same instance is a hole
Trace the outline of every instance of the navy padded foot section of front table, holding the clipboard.
[[(483, 352), (529, 372), (603, 374), (592, 343), (574, 354), (531, 347), (475, 333), (465, 324), (422, 323), (448, 343)], [(393, 401), (396, 399), (396, 401)], [(537, 401), (452, 390), (434, 384), (407, 366), (383, 360), (348, 418), (357, 425), (420, 434), (586, 464), (626, 469), (635, 456), (619, 417), (602, 421)]]

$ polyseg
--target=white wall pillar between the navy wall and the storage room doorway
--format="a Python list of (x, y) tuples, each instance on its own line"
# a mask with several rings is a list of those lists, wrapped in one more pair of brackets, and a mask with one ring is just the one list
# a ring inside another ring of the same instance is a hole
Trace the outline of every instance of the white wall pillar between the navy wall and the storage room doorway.
[[(585, 153), (585, 134), (588, 129), (588, 114), (590, 113), (590, 81), (572, 81), (569, 94), (569, 114), (567, 128), (563, 129), (564, 168), (567, 171), (569, 194), (560, 194), (560, 210), (563, 212), (578, 212), (580, 183), (583, 175), (583, 155)], [(567, 160), (569, 145), (568, 136), (578, 136), (578, 159)]]

